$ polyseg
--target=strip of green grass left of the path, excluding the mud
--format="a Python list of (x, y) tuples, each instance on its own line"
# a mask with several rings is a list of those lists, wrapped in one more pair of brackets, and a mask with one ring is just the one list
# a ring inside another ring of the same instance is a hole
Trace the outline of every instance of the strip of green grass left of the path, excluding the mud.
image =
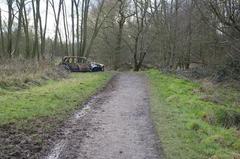
[(0, 126), (53, 116), (62, 118), (110, 77), (110, 73), (79, 73), (61, 81), (50, 80), (40, 87), (20, 91), (0, 89)]

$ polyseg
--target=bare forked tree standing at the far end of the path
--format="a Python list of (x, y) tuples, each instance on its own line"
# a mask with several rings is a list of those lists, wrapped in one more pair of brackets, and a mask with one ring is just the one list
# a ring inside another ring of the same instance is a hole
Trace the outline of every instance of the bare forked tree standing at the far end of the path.
[(136, 31), (130, 36), (134, 39), (133, 47), (131, 47), (127, 41), (125, 41), (125, 43), (133, 53), (134, 71), (139, 71), (142, 67), (145, 56), (149, 52), (153, 40), (156, 38), (155, 35), (151, 37), (148, 35), (150, 34), (150, 26), (155, 13), (158, 11), (159, 5), (155, 2), (156, 8), (149, 13), (148, 11), (151, 9), (150, 0), (133, 0), (133, 3), (135, 19), (131, 23), (136, 27)]

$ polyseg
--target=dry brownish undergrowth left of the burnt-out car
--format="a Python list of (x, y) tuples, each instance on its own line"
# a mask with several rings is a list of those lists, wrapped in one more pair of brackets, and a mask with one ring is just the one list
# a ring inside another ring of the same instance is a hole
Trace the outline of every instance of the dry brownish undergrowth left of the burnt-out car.
[(66, 78), (68, 73), (49, 61), (6, 59), (0, 61), (0, 89), (21, 90), (47, 80)]

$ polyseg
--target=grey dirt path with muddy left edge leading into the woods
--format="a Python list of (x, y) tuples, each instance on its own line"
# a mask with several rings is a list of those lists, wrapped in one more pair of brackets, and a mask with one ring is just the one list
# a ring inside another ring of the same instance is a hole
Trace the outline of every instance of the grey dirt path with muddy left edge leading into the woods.
[(159, 159), (146, 78), (122, 73), (62, 130), (47, 159)]

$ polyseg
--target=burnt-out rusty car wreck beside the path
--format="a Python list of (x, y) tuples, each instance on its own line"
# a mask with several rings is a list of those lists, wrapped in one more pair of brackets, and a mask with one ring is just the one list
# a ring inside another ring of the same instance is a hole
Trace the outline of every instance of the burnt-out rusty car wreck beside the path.
[(71, 72), (100, 72), (104, 65), (89, 61), (86, 57), (65, 56), (60, 65)]

